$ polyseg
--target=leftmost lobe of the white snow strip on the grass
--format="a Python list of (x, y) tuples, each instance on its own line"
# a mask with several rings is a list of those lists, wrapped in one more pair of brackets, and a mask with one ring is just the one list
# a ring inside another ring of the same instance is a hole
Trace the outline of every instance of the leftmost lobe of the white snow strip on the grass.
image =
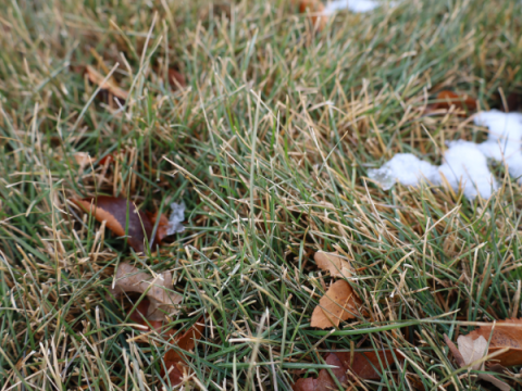
[(370, 179), (375, 180), (384, 190), (389, 190), (398, 180), (405, 186), (417, 187), (423, 179), (438, 184), (437, 167), (421, 161), (411, 153), (397, 153), (388, 163), (377, 169), (370, 169)]

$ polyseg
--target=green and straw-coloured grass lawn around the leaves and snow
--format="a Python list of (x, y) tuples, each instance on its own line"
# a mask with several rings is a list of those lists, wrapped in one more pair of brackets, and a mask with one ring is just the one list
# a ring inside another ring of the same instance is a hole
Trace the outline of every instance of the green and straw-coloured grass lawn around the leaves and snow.
[[(487, 109), (522, 88), (520, 2), (403, 1), (320, 34), (277, 0), (228, 15), (200, 0), (0, 4), (1, 390), (169, 389), (172, 341), (137, 343), (107, 300), (123, 261), (173, 270), (173, 328), (204, 314), (185, 389), (291, 390), (326, 352), (383, 346), (406, 363), (361, 389), (490, 387), (456, 367), (443, 335), (520, 315), (520, 187), (496, 167), (499, 192), (469, 202), (383, 191), (366, 169), (484, 138), (423, 108), (437, 89)], [(115, 67), (124, 106), (95, 97), (87, 64)], [(117, 159), (80, 168), (77, 152)], [(95, 193), (151, 211), (183, 200), (186, 231), (138, 257), (67, 201)], [(360, 269), (369, 316), (313, 329), (332, 280), (313, 253), (336, 249)]]

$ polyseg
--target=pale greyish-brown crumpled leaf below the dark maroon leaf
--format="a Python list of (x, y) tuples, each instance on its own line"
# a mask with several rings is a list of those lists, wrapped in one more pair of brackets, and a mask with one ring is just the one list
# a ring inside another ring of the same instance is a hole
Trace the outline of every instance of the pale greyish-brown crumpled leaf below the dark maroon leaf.
[[(171, 289), (171, 272), (163, 272), (154, 278), (125, 262), (117, 266), (114, 288), (111, 288), (110, 291), (114, 297), (119, 297), (123, 292), (147, 292), (149, 305), (146, 318), (149, 321), (162, 321), (165, 319), (165, 313), (171, 315), (177, 312), (175, 305), (179, 304), (183, 299), (182, 295), (170, 291)], [(145, 308), (141, 307), (141, 311)]]

